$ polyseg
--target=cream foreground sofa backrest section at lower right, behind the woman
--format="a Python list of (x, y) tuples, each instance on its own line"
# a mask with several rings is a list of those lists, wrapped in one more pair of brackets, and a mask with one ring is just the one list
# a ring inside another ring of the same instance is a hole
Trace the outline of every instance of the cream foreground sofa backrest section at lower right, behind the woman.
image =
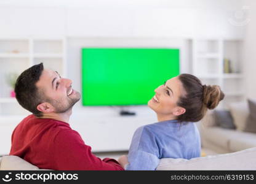
[(256, 148), (193, 159), (163, 158), (157, 170), (256, 170)]

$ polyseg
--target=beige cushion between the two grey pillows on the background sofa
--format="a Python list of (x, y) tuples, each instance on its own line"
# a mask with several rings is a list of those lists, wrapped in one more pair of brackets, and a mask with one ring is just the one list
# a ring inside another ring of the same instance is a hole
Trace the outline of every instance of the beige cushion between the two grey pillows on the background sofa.
[(249, 107), (247, 101), (233, 102), (229, 105), (229, 109), (236, 129), (239, 131), (244, 131), (246, 128), (247, 117), (249, 117)]

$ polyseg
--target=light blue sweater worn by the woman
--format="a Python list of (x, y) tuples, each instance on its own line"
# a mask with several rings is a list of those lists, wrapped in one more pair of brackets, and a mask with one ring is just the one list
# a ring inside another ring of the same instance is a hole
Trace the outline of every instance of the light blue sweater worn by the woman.
[(126, 170), (155, 170), (160, 158), (191, 159), (200, 155), (201, 140), (194, 123), (160, 121), (135, 131)]

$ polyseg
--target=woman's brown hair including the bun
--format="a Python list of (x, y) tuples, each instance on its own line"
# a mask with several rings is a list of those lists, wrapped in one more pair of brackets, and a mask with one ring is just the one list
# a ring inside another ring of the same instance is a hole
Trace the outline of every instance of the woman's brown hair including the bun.
[(201, 81), (191, 74), (180, 74), (185, 94), (180, 97), (177, 105), (186, 112), (177, 117), (180, 121), (196, 122), (201, 120), (207, 109), (214, 109), (222, 101), (225, 94), (218, 85), (202, 85)]

